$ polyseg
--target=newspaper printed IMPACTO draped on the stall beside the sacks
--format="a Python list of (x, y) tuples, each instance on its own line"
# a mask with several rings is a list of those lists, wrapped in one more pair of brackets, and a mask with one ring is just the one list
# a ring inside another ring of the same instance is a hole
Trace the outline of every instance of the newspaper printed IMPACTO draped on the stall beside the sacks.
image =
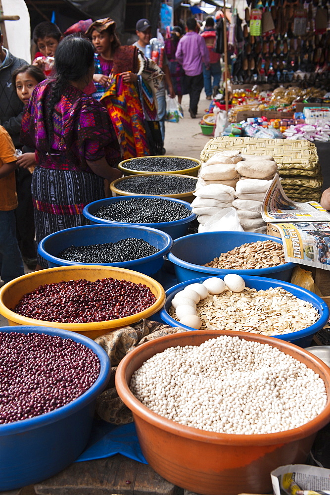
[(330, 270), (330, 213), (320, 203), (291, 201), (276, 175), (266, 193), (262, 217), (279, 230), (285, 261)]

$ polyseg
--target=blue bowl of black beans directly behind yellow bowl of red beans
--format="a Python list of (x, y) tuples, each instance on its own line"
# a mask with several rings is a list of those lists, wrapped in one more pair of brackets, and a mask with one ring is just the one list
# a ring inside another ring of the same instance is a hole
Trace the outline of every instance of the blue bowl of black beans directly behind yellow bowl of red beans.
[[(63, 249), (72, 245), (89, 246), (109, 242), (115, 243), (128, 237), (143, 239), (152, 246), (158, 247), (159, 251), (141, 259), (118, 263), (79, 263), (76, 261), (67, 261), (57, 256)], [(156, 229), (150, 229), (149, 227), (139, 227), (124, 223), (117, 225), (84, 225), (50, 234), (39, 243), (38, 252), (43, 258), (47, 259), (49, 268), (68, 265), (106, 265), (127, 268), (144, 273), (145, 275), (152, 275), (163, 266), (164, 255), (169, 252), (172, 244), (173, 241), (168, 234)]]

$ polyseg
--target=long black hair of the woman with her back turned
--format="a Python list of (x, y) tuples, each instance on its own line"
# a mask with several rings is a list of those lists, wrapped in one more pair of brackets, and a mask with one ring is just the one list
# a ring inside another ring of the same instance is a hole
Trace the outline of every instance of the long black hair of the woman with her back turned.
[[(80, 81), (87, 77), (94, 65), (94, 49), (92, 43), (79, 35), (70, 35), (62, 40), (55, 52), (56, 80), (52, 87), (51, 97), (47, 103), (48, 142), (51, 145), (54, 106), (61, 99), (63, 91), (70, 81)], [(86, 82), (87, 84), (87, 82)]]

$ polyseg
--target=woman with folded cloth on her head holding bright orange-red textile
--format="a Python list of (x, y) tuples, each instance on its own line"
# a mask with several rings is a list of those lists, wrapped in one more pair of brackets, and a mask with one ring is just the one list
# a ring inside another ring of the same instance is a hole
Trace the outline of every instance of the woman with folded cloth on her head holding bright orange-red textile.
[(95, 50), (94, 97), (108, 110), (123, 159), (160, 154), (161, 134), (159, 129), (158, 135), (153, 132), (153, 95), (163, 72), (136, 47), (120, 45), (116, 23), (109, 17), (94, 21), (85, 34)]

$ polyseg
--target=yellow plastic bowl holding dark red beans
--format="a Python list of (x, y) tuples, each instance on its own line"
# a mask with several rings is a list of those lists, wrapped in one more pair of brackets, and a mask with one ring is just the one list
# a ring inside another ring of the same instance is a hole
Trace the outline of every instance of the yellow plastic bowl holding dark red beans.
[[(28, 292), (34, 291), (40, 285), (53, 282), (86, 279), (94, 282), (97, 279), (109, 278), (127, 280), (136, 284), (145, 284), (156, 297), (156, 301), (144, 311), (110, 321), (97, 321), (95, 323), (58, 323), (52, 321), (36, 320), (21, 316), (10, 308), (14, 308), (19, 300)], [(96, 339), (100, 335), (137, 323), (141, 318), (149, 318), (155, 314), (165, 302), (163, 287), (151, 277), (133, 270), (107, 266), (62, 266), (47, 268), (37, 272), (22, 275), (8, 282), (0, 289), (0, 313), (7, 318), (9, 325), (39, 325), (43, 327), (62, 328)]]

